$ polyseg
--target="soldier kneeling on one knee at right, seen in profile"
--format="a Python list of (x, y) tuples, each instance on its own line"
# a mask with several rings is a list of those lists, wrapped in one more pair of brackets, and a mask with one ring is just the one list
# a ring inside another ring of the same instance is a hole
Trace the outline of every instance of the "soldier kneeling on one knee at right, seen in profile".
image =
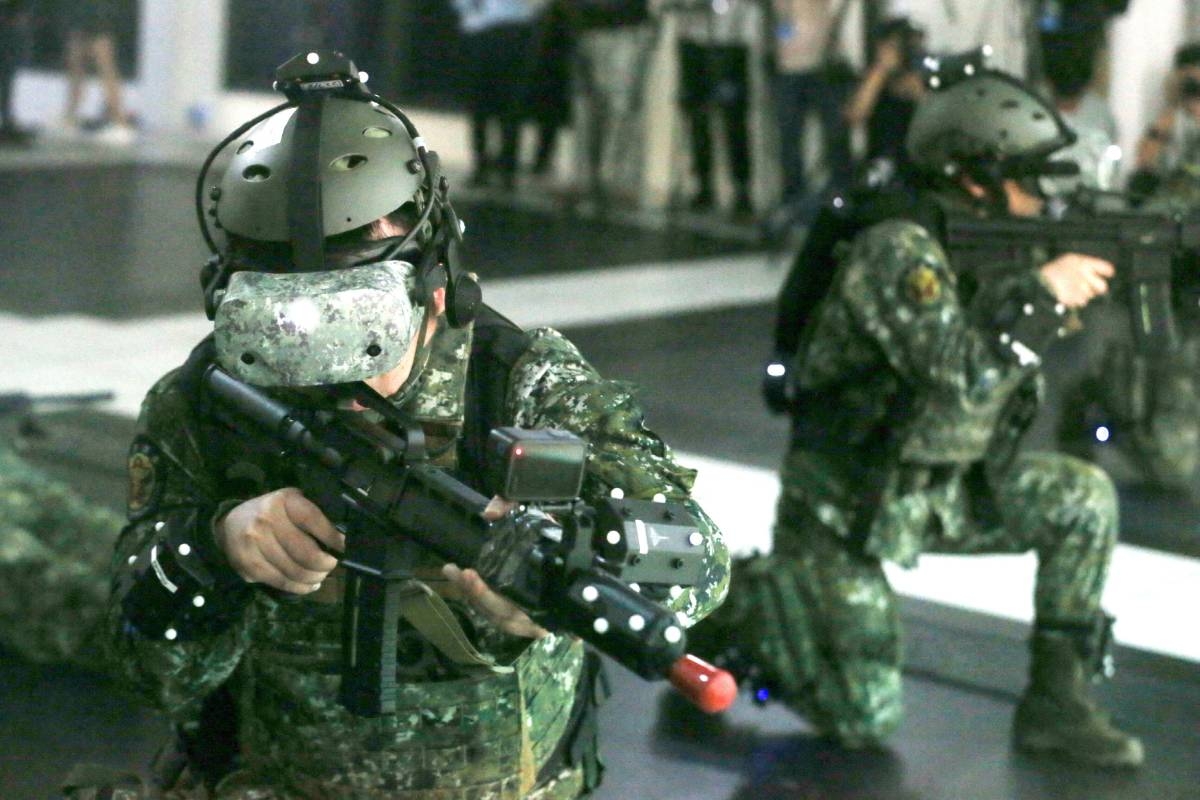
[(793, 428), (774, 552), (736, 563), (730, 602), (691, 643), (822, 734), (876, 745), (901, 720), (900, 619), (883, 561), (1032, 549), (1032, 660), (1014, 745), (1135, 766), (1141, 742), (1087, 691), (1111, 624), (1099, 602), (1117, 536), (1112, 483), (1075, 458), (1018, 451), (1039, 354), (1066, 308), (1105, 293), (1112, 266), (1069, 253), (976, 290), (956, 277), (940, 215), (1036, 213), (1027, 181), (1070, 136), (1006, 74), (972, 65), (936, 77), (906, 143), (922, 190), (820, 218), (780, 295), (781, 354), (764, 389)]

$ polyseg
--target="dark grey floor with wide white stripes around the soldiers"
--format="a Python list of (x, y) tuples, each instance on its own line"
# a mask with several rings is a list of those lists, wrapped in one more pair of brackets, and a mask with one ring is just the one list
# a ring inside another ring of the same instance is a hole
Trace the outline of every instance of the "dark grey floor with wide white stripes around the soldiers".
[[(43, 417), (50, 435), (34, 450), (82, 492), (119, 505), (137, 401), (205, 327), (196, 278), (205, 253), (190, 206), (199, 158), (62, 156), (0, 154), (0, 393), (114, 391), (109, 404)], [(762, 410), (757, 373), (779, 259), (724, 223), (572, 213), (545, 192), (516, 204), (458, 197), (488, 301), (522, 324), (563, 329), (601, 372), (638, 384), (650, 426), (700, 467), (697, 494), (731, 546), (769, 547), (786, 426)], [(1057, 384), (1093, 350), (1085, 336), (1055, 354), (1030, 446), (1052, 445)], [(1144, 738), (1145, 769), (1104, 774), (1013, 754), (1031, 565), (930, 559), (894, 575), (910, 662), (907, 721), (889, 750), (839, 750), (745, 697), (704, 717), (612, 667), (596, 796), (1200, 798), (1200, 505), (1139, 485), (1116, 453), (1100, 458), (1121, 487), (1126, 545), (1106, 604), (1120, 607), (1126, 646), (1098, 691)], [(104, 679), (0, 650), (0, 798), (52, 798), (77, 762), (140, 769), (162, 734), (160, 718)]]

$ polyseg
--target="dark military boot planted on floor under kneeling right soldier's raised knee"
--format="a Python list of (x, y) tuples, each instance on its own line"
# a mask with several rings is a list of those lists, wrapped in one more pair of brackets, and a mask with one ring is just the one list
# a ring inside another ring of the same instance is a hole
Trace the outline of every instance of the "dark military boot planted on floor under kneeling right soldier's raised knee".
[(1141, 765), (1141, 740), (1114, 727), (1088, 696), (1076, 638), (1037, 631), (1030, 651), (1030, 685), (1013, 720), (1015, 747), (1097, 766)]

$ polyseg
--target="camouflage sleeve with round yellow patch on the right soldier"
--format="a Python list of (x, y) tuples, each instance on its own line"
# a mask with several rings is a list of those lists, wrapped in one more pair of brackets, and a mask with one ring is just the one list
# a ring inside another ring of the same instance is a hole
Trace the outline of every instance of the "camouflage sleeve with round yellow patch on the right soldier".
[[(1039, 284), (1034, 290), (1050, 297)], [(982, 402), (1013, 368), (1036, 362), (1014, 356), (1012, 333), (972, 324), (941, 245), (912, 222), (859, 234), (835, 291), (857, 327), (914, 386)]]

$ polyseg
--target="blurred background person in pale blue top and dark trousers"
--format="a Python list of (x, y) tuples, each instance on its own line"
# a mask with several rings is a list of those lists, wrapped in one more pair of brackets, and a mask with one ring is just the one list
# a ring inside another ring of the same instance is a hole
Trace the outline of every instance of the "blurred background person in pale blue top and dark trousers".
[[(470, 184), (516, 184), (534, 12), (527, 0), (454, 0), (466, 50)], [(498, 130), (497, 130), (498, 128)], [(499, 134), (498, 146), (493, 130)]]

